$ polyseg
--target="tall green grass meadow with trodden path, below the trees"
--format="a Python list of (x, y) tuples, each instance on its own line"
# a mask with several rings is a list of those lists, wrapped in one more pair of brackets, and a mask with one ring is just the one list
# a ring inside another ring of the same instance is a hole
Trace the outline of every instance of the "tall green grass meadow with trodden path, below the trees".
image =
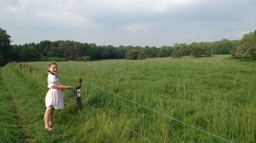
[[(32, 67), (33, 72), (29, 69)], [(256, 62), (230, 55), (58, 62), (65, 108), (44, 129), (47, 62), (0, 68), (0, 143), (256, 143)]]

